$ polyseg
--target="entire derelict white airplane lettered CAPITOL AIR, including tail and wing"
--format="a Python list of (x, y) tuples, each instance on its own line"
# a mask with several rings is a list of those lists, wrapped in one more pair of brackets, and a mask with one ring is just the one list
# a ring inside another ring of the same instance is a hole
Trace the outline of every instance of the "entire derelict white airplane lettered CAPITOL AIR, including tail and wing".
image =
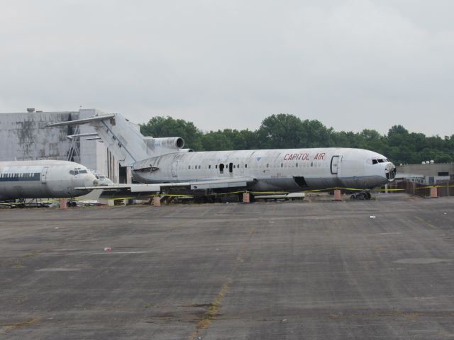
[[(365, 149), (315, 148), (192, 152), (180, 137), (145, 137), (118, 113), (52, 123), (89, 124), (133, 179), (147, 185), (108, 188), (131, 192), (304, 191), (367, 189), (394, 180), (396, 168), (382, 154)], [(368, 196), (370, 197), (370, 196)]]

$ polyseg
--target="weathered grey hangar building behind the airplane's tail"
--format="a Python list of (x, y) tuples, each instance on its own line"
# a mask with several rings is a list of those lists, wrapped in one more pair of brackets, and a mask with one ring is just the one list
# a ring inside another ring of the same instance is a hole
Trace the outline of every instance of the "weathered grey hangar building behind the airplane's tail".
[(22, 113), (0, 113), (0, 161), (70, 160), (108, 176), (114, 183), (131, 183), (131, 169), (120, 166), (103, 142), (90, 140), (89, 137), (67, 137), (92, 133), (94, 129), (91, 126), (46, 128), (48, 123), (87, 118), (96, 113), (103, 114), (94, 108), (60, 112), (29, 108)]

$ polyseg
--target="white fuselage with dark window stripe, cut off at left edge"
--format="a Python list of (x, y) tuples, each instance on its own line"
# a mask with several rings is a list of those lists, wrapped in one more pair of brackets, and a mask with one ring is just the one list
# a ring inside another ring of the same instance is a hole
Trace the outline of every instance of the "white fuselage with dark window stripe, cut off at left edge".
[(0, 162), (0, 200), (75, 197), (90, 191), (74, 188), (96, 185), (94, 174), (74, 162)]

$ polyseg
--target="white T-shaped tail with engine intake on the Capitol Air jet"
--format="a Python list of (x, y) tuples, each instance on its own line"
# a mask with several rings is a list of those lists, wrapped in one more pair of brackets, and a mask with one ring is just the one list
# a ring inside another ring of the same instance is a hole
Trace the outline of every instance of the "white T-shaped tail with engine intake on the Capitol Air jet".
[(135, 125), (129, 123), (119, 113), (94, 115), (79, 120), (48, 124), (48, 126), (79, 124), (91, 125), (121, 166), (131, 166), (143, 159), (179, 152), (184, 146), (184, 140), (179, 137), (145, 137)]

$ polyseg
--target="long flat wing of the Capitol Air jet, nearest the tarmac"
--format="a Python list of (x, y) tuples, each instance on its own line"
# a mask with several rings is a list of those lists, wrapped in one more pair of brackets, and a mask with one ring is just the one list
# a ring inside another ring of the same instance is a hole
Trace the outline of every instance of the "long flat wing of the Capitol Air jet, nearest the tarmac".
[(218, 188), (245, 188), (257, 179), (250, 176), (231, 177), (228, 179), (188, 181), (175, 183), (153, 184), (111, 184), (109, 186), (84, 186), (76, 190), (104, 190), (104, 191), (128, 191), (131, 193), (159, 193), (166, 188), (185, 188), (193, 190), (218, 189)]

